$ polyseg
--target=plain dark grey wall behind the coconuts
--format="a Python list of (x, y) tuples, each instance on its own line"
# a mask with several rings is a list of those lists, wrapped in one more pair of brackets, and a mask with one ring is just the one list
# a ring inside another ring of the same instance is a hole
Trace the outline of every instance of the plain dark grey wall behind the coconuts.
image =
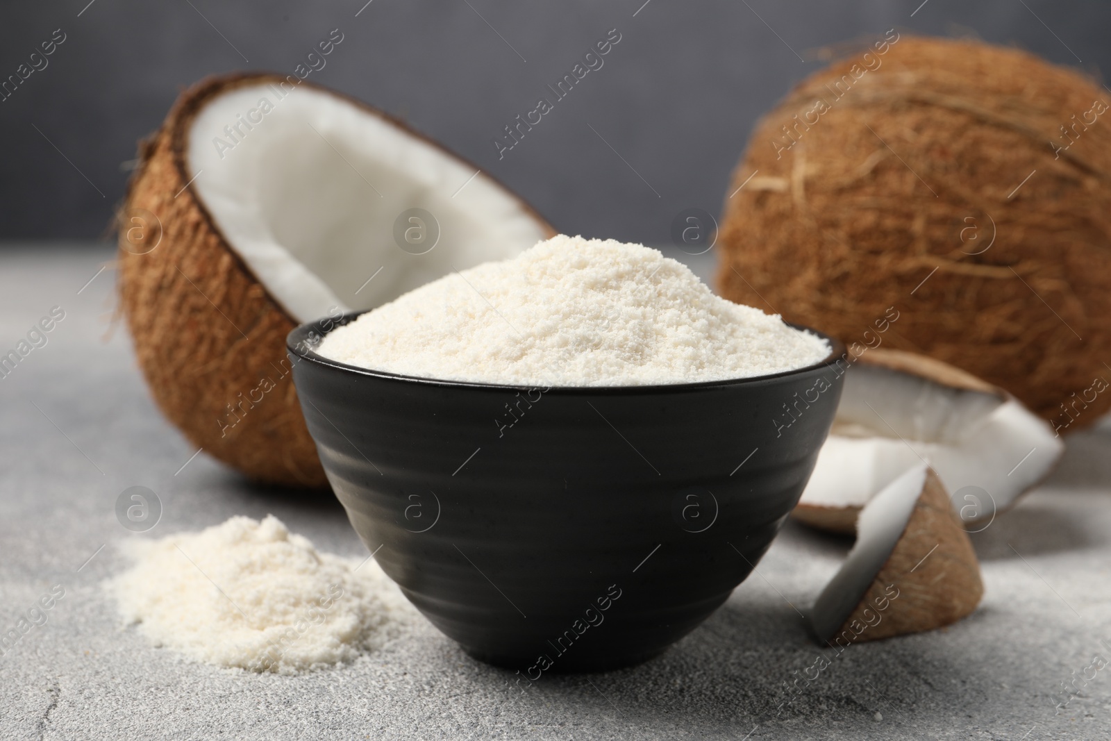
[[(645, 243), (668, 242), (684, 208), (719, 212), (753, 122), (821, 66), (822, 47), (895, 27), (1111, 69), (1099, 0), (373, 0), (356, 17), (364, 2), (4, 3), (0, 79), (54, 29), (68, 38), (0, 103), (0, 239), (103, 236), (121, 162), (182, 87), (290, 73), (333, 28), (344, 41), (311, 80), (407, 119), (562, 231)], [(622, 40), (604, 67), (499, 161), (496, 133), (611, 28)]]

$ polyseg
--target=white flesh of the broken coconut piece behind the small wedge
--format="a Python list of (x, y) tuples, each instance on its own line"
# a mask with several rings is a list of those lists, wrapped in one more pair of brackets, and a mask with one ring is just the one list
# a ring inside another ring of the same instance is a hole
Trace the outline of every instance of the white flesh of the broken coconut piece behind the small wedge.
[(961, 519), (978, 522), (1040, 481), (1063, 450), (1050, 425), (1008, 394), (858, 363), (800, 504), (863, 507), (929, 462)]

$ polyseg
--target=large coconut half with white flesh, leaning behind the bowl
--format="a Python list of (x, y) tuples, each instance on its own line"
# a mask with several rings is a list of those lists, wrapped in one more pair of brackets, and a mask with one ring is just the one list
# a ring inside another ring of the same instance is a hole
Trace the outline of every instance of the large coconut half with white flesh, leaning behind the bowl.
[(326, 483), (286, 356), (294, 326), (553, 233), (477, 167), (296, 78), (203, 80), (140, 154), (119, 240), (139, 366), (194, 445), (262, 481)]

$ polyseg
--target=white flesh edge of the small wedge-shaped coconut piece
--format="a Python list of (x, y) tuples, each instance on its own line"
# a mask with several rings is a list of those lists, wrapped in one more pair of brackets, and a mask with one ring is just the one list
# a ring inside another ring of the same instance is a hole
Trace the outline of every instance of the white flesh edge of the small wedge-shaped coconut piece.
[(841, 630), (891, 558), (925, 485), (927, 469), (921, 462), (911, 465), (861, 510), (857, 542), (810, 613), (810, 625), (822, 643)]

